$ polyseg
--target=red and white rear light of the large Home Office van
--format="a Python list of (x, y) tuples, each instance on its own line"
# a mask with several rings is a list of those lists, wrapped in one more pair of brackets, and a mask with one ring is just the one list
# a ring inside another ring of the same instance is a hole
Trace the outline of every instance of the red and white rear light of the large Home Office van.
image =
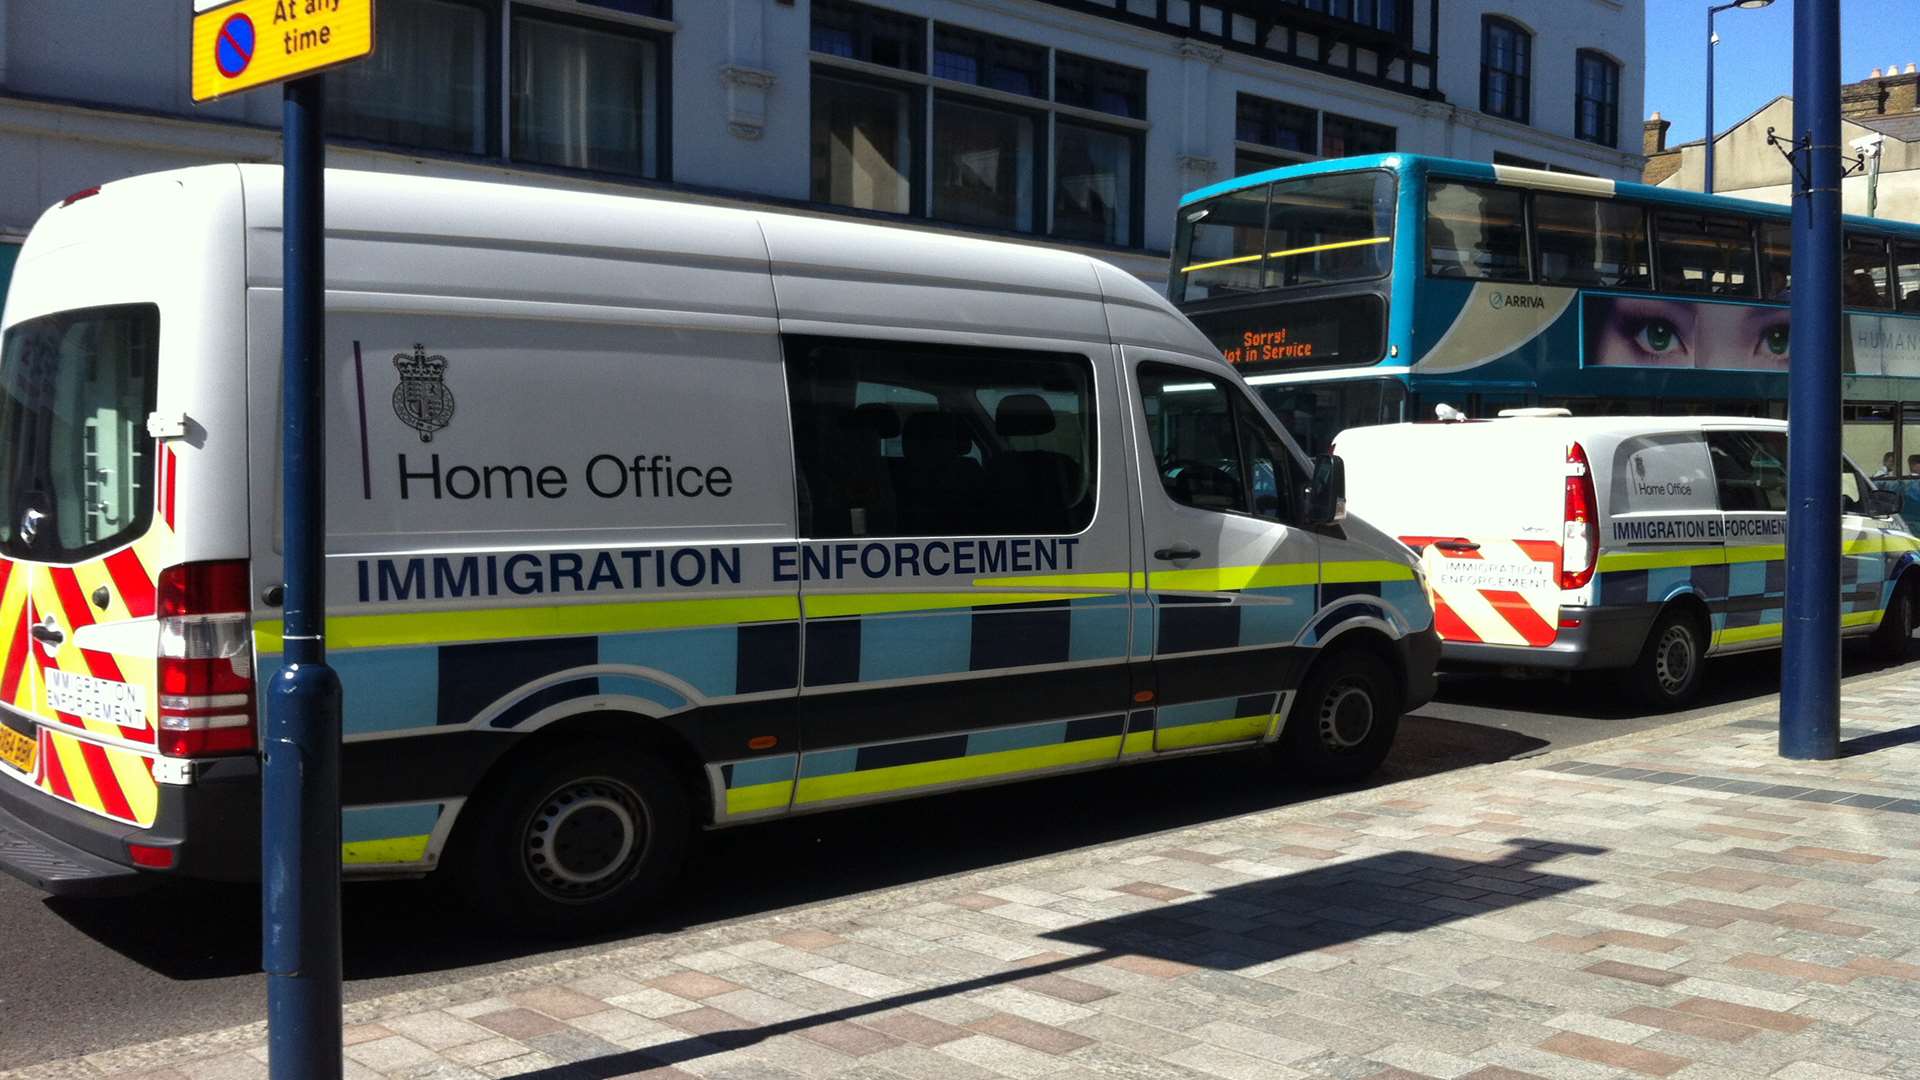
[(252, 753), (253, 634), (246, 559), (159, 573), (159, 753)]

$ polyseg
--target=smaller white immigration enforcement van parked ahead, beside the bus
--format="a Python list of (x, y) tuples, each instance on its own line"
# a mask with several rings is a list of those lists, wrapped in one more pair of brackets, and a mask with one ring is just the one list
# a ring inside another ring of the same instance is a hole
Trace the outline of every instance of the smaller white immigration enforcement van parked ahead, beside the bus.
[[(1699, 661), (1780, 644), (1788, 425), (1718, 417), (1352, 429), (1356, 513), (1421, 553), (1448, 663), (1624, 669), (1678, 707)], [(1905, 655), (1920, 540), (1851, 461), (1841, 477), (1841, 628)]]

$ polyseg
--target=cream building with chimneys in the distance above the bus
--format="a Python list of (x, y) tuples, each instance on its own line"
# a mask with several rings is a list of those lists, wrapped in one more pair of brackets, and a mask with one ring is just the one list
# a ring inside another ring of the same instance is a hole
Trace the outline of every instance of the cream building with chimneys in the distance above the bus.
[[(1839, 88), (1843, 150), (1841, 209), (1845, 213), (1920, 221), (1920, 65), (1876, 67), (1866, 79)], [(1793, 98), (1780, 96), (1722, 131), (1713, 148), (1716, 194), (1761, 202), (1793, 202), (1793, 171), (1768, 129), (1782, 140), (1793, 133)], [(1642, 179), (1682, 190), (1701, 190), (1707, 146), (1701, 140), (1667, 144), (1668, 123), (1653, 113), (1642, 131), (1647, 165)], [(1878, 158), (1878, 160), (1876, 160)]]

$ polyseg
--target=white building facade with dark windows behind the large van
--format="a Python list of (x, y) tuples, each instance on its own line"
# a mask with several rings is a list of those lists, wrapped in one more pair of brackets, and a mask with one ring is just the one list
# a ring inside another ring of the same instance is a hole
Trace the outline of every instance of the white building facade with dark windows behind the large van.
[[(1638, 177), (1644, 0), (378, 0), (328, 163), (958, 229), (1165, 281), (1181, 194), (1382, 150)], [(276, 161), (184, 0), (0, 0), (0, 281), (115, 177)]]

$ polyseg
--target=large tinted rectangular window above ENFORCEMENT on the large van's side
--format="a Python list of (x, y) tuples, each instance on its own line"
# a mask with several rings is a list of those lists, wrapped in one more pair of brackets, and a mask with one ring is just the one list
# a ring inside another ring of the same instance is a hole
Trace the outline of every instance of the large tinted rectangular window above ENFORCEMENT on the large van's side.
[(1094, 511), (1083, 356), (785, 338), (801, 536), (1035, 536)]

